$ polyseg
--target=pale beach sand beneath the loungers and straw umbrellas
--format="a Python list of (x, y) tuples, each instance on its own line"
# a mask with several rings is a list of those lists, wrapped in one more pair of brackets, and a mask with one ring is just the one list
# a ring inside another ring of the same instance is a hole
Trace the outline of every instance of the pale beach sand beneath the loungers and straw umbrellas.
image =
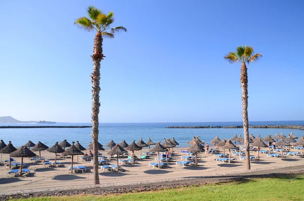
[[(287, 158), (267, 157), (266, 154), (260, 153), (260, 161), (251, 162), (251, 170), (246, 171), (245, 161), (237, 158), (237, 163), (227, 164), (216, 162), (215, 157), (211, 154), (198, 153), (200, 157), (198, 167), (182, 167), (176, 166), (177, 161), (181, 161), (180, 156), (186, 153), (179, 153), (178, 150), (186, 148), (175, 148), (174, 162), (169, 163), (168, 169), (153, 169), (149, 167), (149, 163), (156, 163), (156, 156), (151, 156), (151, 159), (138, 159), (136, 165), (122, 165), (123, 172), (102, 172), (99, 169), (100, 185), (98, 187), (149, 184), (165, 181), (187, 180), (206, 176), (225, 176), (235, 173), (254, 172), (261, 170), (278, 169), (285, 167), (294, 167), (304, 165), (303, 156), (288, 156)], [(266, 149), (265, 149), (266, 150)], [(107, 151), (103, 151), (103, 155), (107, 155)], [(147, 151), (143, 149), (142, 151)], [(299, 152), (300, 150), (290, 149), (290, 151)], [(227, 151), (226, 151), (227, 153)], [(39, 153), (37, 153), (39, 154)], [(140, 151), (135, 151), (136, 155)], [(54, 161), (54, 153), (42, 151), (41, 155), (46, 157), (51, 162)], [(251, 152), (251, 155), (257, 155), (257, 152)], [(0, 166), (0, 194), (15, 194), (29, 193), (54, 190), (71, 190), (96, 187), (93, 185), (93, 167), (91, 162), (81, 161), (74, 157), (74, 166), (85, 166), (86, 173), (69, 174), (68, 167), (71, 165), (71, 158), (60, 158), (58, 161), (65, 167), (60, 168), (45, 168), (43, 163), (29, 163), (28, 158), (24, 158), (24, 163), (31, 170), (29, 177), (7, 178), (9, 169)], [(3, 160), (9, 158), (9, 154), (2, 155)], [(21, 162), (21, 158), (15, 158), (17, 162)], [(111, 165), (116, 165), (115, 158), (109, 161)]]

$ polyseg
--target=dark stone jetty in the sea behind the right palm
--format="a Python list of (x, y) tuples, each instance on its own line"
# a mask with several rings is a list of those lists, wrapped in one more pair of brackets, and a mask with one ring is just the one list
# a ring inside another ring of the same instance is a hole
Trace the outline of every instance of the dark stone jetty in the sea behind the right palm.
[[(243, 126), (171, 126), (167, 129), (241, 129)], [(262, 125), (249, 126), (252, 129), (299, 129), (304, 130), (304, 126), (300, 125)]]

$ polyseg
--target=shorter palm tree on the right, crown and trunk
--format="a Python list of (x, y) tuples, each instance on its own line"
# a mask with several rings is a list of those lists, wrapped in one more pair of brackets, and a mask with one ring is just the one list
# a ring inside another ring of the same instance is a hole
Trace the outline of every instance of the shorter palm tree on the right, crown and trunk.
[[(242, 117), (245, 139), (245, 154), (246, 154), (246, 169), (250, 170), (250, 157), (249, 157), (249, 131), (248, 131), (248, 74), (246, 63), (258, 61), (262, 57), (261, 54), (253, 53), (251, 46), (238, 46), (236, 52), (229, 52), (224, 59), (229, 63), (242, 63), (241, 67), (241, 88), (242, 88)], [(240, 147), (241, 148), (241, 147)]]

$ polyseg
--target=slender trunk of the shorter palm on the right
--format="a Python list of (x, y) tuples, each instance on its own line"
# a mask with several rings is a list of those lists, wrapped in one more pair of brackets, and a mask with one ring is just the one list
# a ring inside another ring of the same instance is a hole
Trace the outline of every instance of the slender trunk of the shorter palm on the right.
[(242, 64), (241, 67), (241, 88), (242, 88), (242, 117), (244, 128), (244, 145), (246, 155), (246, 169), (250, 170), (250, 152), (249, 152), (249, 125), (248, 125), (248, 74), (246, 64)]

